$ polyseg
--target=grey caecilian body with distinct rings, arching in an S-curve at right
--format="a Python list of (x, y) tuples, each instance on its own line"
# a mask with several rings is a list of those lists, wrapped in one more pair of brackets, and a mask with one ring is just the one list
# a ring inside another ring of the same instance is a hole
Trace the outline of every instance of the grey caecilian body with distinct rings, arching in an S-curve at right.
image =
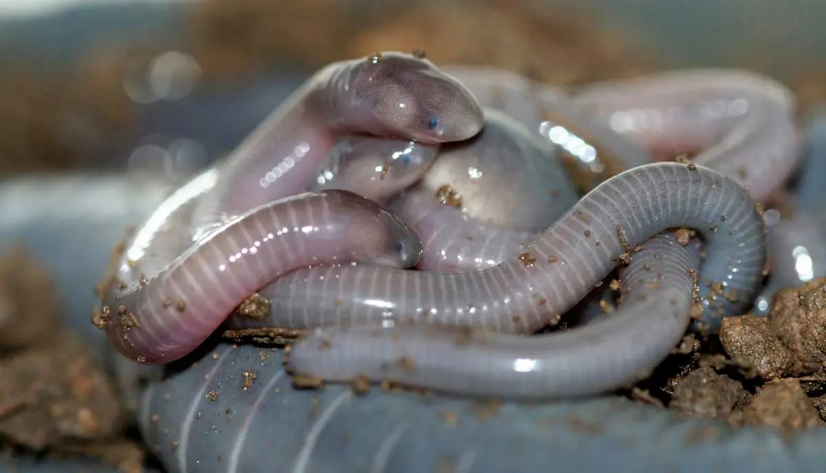
[(681, 226), (696, 229), (708, 245), (700, 271), (705, 310), (743, 310), (766, 260), (764, 223), (754, 201), (710, 169), (653, 163), (596, 187), (505, 263), (457, 273), (370, 266), (300, 270), (263, 290), (273, 306), (259, 324), (312, 329), (430, 323), (533, 333), (582, 300), (620, 261), (633, 258), (637, 244)]

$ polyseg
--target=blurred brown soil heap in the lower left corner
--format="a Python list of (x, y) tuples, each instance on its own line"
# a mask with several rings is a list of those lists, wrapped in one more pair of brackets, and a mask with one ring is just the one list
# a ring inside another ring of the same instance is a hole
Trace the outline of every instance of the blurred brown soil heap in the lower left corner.
[(111, 378), (59, 324), (49, 272), (21, 248), (0, 253), (0, 445), (95, 456), (140, 471), (145, 454), (124, 438), (127, 413)]

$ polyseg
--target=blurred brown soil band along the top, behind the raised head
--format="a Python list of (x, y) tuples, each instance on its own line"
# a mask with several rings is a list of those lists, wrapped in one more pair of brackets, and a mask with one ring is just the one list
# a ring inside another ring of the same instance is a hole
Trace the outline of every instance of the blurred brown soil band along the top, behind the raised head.
[(634, 35), (571, 8), (504, 0), (376, 7), (207, 0), (193, 19), (192, 47), (216, 77), (273, 69), (275, 59), (312, 70), (382, 50), (425, 50), (436, 64), (494, 66), (558, 85), (662, 69)]

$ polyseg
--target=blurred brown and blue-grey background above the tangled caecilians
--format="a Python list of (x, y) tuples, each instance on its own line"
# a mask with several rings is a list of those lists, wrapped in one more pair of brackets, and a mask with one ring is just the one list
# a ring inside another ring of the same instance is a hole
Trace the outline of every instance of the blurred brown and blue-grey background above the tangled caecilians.
[(816, 0), (30, 0), (0, 2), (0, 172), (189, 173), (303, 78), (373, 50), (427, 50), (561, 85), (687, 66), (826, 88)]

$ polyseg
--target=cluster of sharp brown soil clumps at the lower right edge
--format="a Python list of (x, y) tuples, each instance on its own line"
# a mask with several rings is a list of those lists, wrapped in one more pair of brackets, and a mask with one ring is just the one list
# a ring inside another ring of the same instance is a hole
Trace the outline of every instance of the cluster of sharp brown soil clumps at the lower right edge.
[[(679, 371), (679, 376), (667, 379), (659, 392), (669, 393), (665, 402), (669, 409), (733, 427), (762, 425), (786, 431), (822, 427), (826, 419), (824, 327), (826, 278), (779, 291), (767, 317), (724, 319), (719, 339), (707, 338), (692, 347), (699, 361), (686, 358), (683, 351), (682, 365), (674, 365), (674, 356), (663, 363)], [(686, 365), (686, 360), (691, 363)]]

